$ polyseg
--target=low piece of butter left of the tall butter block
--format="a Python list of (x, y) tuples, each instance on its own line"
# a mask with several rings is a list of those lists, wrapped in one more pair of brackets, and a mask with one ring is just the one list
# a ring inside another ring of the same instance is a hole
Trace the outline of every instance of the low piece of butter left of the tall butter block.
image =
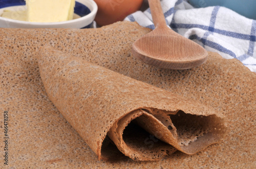
[(10, 11), (10, 10), (4, 10), (2, 17), (9, 18), (9, 19), (15, 19), (15, 20), (27, 20), (27, 11)]

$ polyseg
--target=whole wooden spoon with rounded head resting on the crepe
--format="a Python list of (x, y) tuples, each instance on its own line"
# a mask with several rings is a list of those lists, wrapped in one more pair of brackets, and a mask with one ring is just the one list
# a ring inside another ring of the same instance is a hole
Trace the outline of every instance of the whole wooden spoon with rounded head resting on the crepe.
[(148, 0), (155, 29), (133, 43), (132, 53), (144, 63), (165, 69), (190, 69), (207, 60), (207, 51), (169, 29), (160, 0)]

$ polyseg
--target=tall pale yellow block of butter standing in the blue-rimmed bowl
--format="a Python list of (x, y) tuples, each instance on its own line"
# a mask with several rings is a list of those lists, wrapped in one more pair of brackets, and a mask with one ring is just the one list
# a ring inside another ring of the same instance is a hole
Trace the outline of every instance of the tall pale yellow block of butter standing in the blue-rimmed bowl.
[(27, 21), (60, 22), (73, 18), (75, 0), (26, 0)]

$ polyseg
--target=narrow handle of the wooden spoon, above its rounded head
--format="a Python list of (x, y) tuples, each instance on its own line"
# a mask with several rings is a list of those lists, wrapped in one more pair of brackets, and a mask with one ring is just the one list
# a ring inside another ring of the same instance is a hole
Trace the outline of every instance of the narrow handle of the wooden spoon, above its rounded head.
[(160, 0), (148, 0), (155, 27), (167, 27)]

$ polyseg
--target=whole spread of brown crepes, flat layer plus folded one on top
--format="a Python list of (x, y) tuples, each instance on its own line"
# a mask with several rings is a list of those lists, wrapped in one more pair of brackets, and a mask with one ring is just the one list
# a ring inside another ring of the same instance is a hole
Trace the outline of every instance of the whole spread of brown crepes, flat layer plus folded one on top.
[(253, 168), (255, 73), (212, 52), (195, 69), (149, 66), (131, 47), (150, 31), (0, 29), (9, 166)]

